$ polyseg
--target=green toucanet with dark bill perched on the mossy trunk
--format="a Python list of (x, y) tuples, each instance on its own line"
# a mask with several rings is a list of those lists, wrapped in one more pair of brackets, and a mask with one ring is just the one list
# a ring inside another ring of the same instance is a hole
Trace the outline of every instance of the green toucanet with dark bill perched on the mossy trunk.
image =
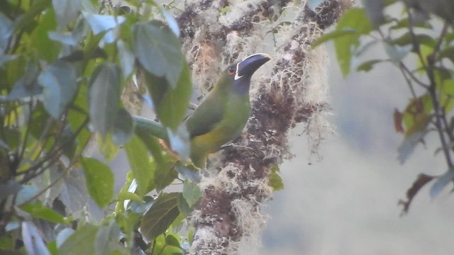
[[(185, 120), (189, 132), (189, 158), (194, 166), (206, 166), (208, 155), (240, 135), (250, 115), (250, 79), (270, 55), (258, 53), (231, 64), (204, 101)], [(136, 118), (138, 128), (167, 141), (165, 130), (150, 120)]]

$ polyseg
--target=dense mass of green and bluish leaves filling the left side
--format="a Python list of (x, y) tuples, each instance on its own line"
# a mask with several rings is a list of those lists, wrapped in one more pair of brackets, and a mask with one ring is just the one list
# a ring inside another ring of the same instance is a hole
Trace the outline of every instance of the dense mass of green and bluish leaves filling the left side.
[[(194, 169), (135, 132), (121, 94), (140, 70), (157, 118), (178, 135), (189, 67), (167, 11), (127, 2), (1, 1), (0, 253), (184, 253), (177, 231), (201, 196)], [(104, 160), (86, 153), (94, 140)], [(131, 172), (115, 194), (105, 162), (120, 147)], [(166, 193), (178, 173), (184, 191)], [(104, 210), (100, 222), (88, 198)]]

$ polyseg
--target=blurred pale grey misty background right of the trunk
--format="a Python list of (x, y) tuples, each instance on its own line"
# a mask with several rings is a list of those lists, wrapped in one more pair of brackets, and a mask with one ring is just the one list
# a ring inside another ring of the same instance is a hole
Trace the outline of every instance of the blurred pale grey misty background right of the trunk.
[(435, 134), (405, 164), (397, 160), (403, 136), (394, 130), (392, 113), (409, 100), (399, 70), (379, 64), (343, 79), (331, 44), (328, 55), (329, 119), (336, 135), (326, 137), (320, 160), (310, 156), (304, 135), (290, 139), (297, 157), (282, 164), (284, 190), (264, 206), (271, 217), (260, 254), (453, 254), (454, 196), (448, 188), (431, 199), (429, 183), (409, 214), (400, 216), (397, 202), (406, 200), (416, 176), (446, 169), (443, 155), (433, 154)]

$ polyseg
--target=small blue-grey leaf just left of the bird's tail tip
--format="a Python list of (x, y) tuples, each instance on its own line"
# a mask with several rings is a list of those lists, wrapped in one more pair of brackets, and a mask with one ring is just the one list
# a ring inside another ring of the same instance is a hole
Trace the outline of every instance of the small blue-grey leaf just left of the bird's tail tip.
[(118, 110), (112, 130), (112, 140), (116, 145), (125, 145), (133, 136), (133, 117), (124, 108)]

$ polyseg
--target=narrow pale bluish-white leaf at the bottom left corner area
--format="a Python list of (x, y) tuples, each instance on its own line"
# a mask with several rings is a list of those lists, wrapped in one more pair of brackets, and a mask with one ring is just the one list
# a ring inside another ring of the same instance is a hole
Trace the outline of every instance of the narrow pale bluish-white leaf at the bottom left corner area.
[(28, 255), (50, 255), (33, 222), (22, 222), (22, 240)]

